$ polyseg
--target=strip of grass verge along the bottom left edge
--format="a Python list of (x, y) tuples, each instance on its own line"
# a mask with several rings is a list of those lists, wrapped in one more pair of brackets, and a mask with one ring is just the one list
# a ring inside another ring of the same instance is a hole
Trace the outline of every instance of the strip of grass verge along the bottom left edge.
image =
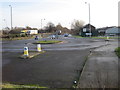
[(0, 87), (2, 88), (47, 88), (39, 85), (15, 85), (15, 84), (9, 84), (9, 83), (4, 83)]

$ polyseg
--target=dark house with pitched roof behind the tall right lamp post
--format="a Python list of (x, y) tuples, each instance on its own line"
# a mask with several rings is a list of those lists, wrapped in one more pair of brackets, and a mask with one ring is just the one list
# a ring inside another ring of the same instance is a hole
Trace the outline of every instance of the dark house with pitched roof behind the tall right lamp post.
[(96, 28), (93, 25), (87, 24), (82, 28), (79, 35), (81, 35), (82, 37), (89, 37), (90, 35), (98, 36), (98, 31), (96, 30)]

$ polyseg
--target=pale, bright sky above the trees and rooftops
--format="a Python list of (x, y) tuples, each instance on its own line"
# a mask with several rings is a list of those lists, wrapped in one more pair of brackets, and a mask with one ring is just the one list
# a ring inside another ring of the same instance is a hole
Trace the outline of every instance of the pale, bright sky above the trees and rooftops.
[[(87, 4), (85, 4), (87, 2)], [(89, 23), (96, 28), (118, 26), (119, 0), (0, 0), (0, 29), (10, 27), (12, 6), (13, 27), (42, 28), (47, 23), (60, 23), (71, 28), (74, 20)]]

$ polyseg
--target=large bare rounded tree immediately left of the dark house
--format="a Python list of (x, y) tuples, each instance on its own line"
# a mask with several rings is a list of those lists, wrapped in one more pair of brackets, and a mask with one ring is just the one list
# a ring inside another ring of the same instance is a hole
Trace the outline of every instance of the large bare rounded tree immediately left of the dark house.
[(78, 35), (84, 25), (84, 21), (82, 20), (74, 20), (71, 24), (72, 33)]

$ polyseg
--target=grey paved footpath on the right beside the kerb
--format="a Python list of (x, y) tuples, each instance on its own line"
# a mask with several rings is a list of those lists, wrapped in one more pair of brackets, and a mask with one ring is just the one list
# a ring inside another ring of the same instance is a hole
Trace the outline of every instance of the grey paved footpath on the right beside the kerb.
[(118, 88), (118, 43), (96, 48), (83, 68), (77, 88)]

